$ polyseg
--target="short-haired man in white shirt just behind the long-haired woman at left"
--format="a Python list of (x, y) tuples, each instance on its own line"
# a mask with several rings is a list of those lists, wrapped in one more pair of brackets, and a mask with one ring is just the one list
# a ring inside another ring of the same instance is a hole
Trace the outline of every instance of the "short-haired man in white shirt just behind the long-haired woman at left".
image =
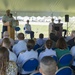
[(8, 49), (8, 51), (9, 51), (9, 60), (16, 62), (17, 61), (17, 56), (15, 55), (15, 53), (10, 51), (11, 42), (8, 38), (3, 39), (2, 46)]

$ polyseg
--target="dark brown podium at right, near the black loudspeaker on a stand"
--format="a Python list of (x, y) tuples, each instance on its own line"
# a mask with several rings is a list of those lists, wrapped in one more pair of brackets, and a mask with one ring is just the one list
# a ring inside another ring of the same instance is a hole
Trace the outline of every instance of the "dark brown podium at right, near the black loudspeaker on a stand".
[(62, 37), (62, 30), (63, 30), (62, 25), (63, 25), (62, 23), (52, 25), (52, 32), (55, 33), (55, 35), (57, 35), (58, 37)]

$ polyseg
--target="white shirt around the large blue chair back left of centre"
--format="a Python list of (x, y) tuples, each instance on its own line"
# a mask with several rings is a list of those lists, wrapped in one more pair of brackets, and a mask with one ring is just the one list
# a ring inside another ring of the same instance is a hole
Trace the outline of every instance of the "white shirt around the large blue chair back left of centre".
[[(26, 51), (26, 52), (20, 53), (20, 55), (18, 56), (18, 60), (17, 60), (18, 66), (21, 68), (22, 65), (25, 63), (25, 61), (27, 61), (30, 58), (38, 59), (38, 53), (35, 52), (33, 49), (31, 51)], [(31, 72), (26, 72), (23, 69), (21, 69), (20, 73), (21, 74), (28, 74)]]

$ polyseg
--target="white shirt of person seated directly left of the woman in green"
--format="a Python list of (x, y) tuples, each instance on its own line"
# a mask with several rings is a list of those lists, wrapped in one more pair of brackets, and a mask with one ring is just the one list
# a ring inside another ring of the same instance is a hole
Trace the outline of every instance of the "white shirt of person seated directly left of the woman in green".
[(56, 56), (56, 52), (53, 51), (52, 49), (46, 48), (45, 51), (40, 53), (39, 60), (41, 60), (45, 56), (51, 56), (51, 55), (55, 55)]

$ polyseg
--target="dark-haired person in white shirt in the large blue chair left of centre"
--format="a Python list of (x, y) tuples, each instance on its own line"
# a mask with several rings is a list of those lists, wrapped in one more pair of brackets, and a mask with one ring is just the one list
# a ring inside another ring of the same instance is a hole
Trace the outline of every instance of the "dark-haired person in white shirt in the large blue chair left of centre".
[(28, 40), (27, 42), (27, 51), (25, 52), (21, 52), (18, 56), (18, 60), (17, 60), (17, 64), (20, 68), (20, 74), (23, 75), (23, 74), (29, 74), (29, 73), (32, 73), (32, 72), (27, 72), (27, 71), (24, 71), (21, 67), (22, 65), (28, 60), (28, 59), (31, 59), (31, 58), (36, 58), (38, 59), (38, 53), (35, 52), (33, 50), (34, 48), (34, 45), (35, 45), (35, 42), (34, 40)]

